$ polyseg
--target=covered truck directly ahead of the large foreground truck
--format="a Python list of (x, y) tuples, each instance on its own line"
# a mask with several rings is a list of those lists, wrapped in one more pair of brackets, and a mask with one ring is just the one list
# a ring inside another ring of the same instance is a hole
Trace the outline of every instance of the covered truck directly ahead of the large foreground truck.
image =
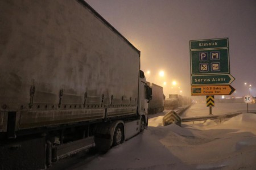
[(163, 87), (157, 84), (147, 82), (152, 89), (152, 100), (148, 103), (148, 114), (163, 112), (164, 110), (164, 94)]

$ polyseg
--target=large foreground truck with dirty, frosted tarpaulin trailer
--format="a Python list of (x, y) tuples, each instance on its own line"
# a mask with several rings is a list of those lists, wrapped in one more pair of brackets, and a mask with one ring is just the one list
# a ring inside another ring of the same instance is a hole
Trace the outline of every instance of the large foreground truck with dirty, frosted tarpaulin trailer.
[(0, 11), (0, 169), (44, 169), (143, 131), (140, 52), (85, 1), (6, 0)]

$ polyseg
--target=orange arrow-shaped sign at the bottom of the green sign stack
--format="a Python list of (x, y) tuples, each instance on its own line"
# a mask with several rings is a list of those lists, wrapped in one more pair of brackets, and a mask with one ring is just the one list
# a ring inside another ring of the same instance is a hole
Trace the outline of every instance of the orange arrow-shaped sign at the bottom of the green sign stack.
[(191, 86), (192, 96), (203, 95), (231, 95), (236, 89), (230, 85), (220, 86)]

